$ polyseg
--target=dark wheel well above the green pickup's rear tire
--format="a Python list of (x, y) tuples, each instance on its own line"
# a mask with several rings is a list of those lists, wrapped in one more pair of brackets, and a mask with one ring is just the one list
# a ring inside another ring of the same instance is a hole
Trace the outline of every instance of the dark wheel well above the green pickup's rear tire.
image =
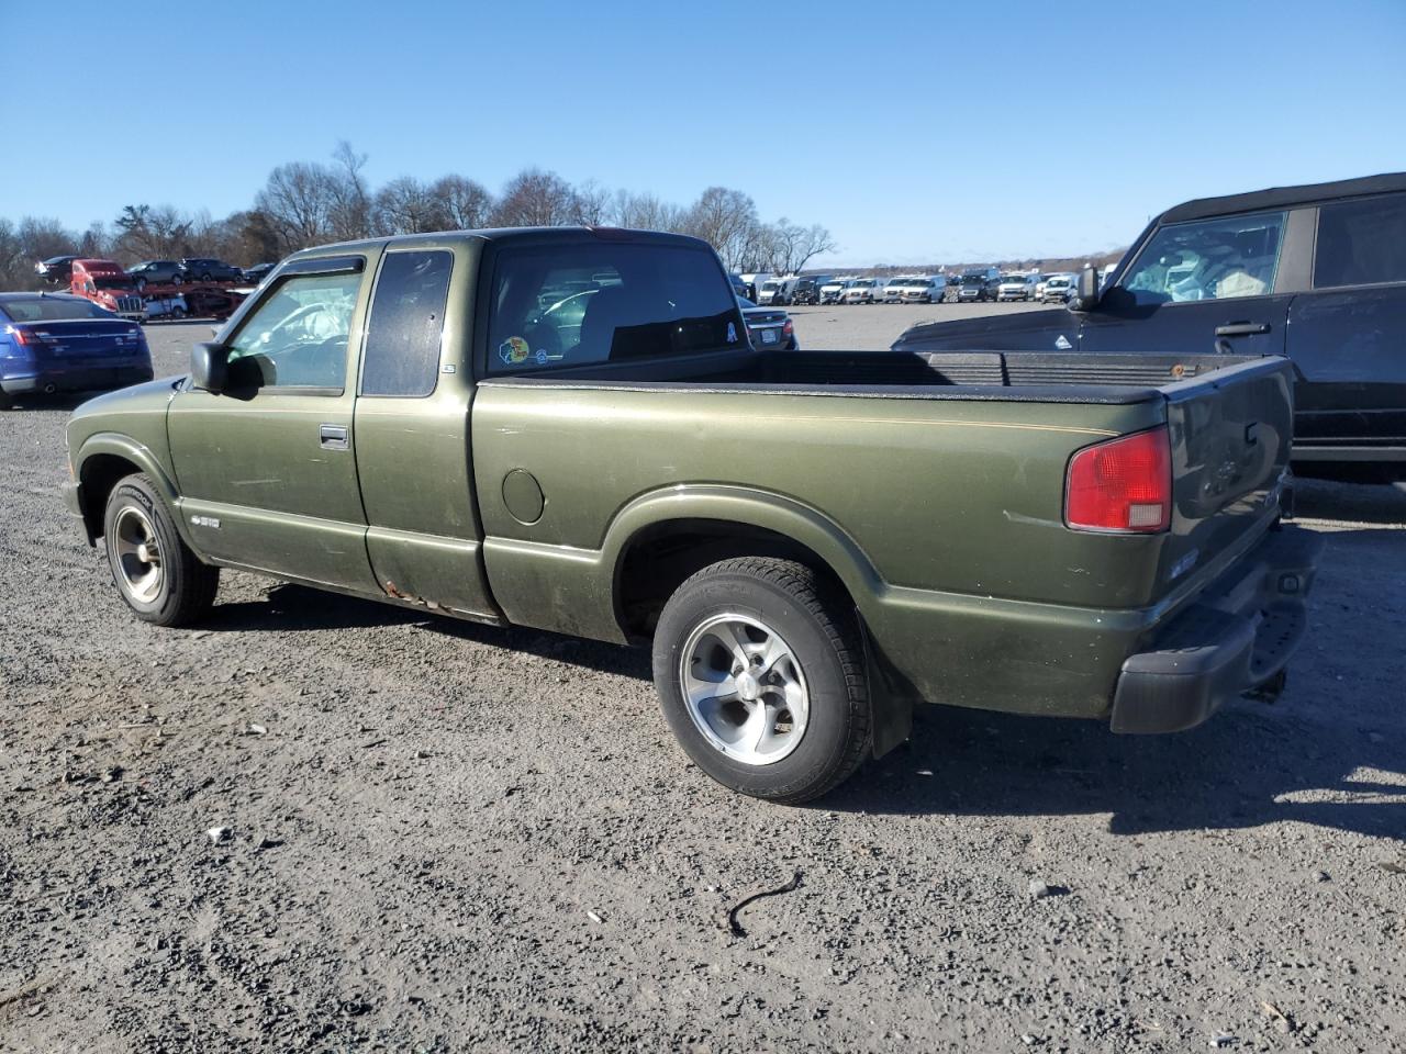
[[(648, 639), (659, 611), (683, 580), (733, 557), (779, 557), (823, 575), (845, 597), (845, 583), (814, 549), (778, 531), (724, 520), (673, 520), (631, 538), (616, 571), (616, 613), (626, 635)], [(852, 600), (852, 597), (849, 597)]]

